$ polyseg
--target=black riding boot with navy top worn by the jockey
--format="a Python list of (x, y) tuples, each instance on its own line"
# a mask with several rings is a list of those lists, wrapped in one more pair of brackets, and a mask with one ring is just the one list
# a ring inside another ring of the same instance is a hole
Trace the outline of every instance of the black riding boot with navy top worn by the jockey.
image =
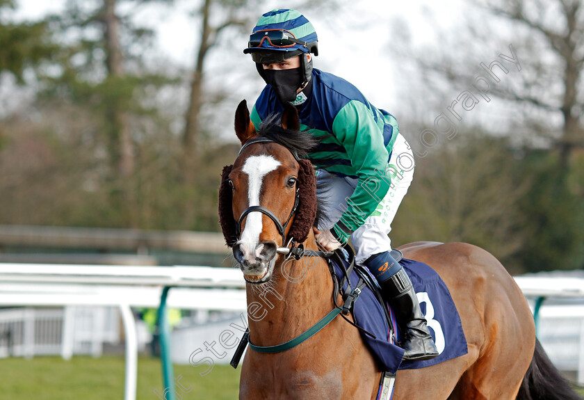
[[(389, 255), (381, 253), (369, 258), (366, 266), (378, 279), (382, 296), (396, 312), (402, 333), (400, 346), (405, 350), (404, 360), (430, 360), (438, 355), (436, 344), (428, 331), (426, 320), (420, 310), (418, 297), (407, 273)], [(392, 271), (390, 271), (390, 269)], [(397, 271), (396, 271), (397, 270)], [(389, 278), (385, 274), (391, 274)]]

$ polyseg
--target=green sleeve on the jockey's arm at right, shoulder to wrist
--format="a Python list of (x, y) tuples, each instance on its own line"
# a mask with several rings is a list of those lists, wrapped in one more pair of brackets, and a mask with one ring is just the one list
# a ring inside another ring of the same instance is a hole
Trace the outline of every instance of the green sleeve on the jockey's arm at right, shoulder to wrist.
[(343, 243), (363, 225), (389, 191), (391, 179), (386, 176), (389, 152), (382, 134), (384, 123), (384, 118), (376, 121), (373, 111), (358, 100), (348, 102), (334, 118), (334, 136), (345, 147), (359, 177), (346, 210), (332, 228), (334, 236)]

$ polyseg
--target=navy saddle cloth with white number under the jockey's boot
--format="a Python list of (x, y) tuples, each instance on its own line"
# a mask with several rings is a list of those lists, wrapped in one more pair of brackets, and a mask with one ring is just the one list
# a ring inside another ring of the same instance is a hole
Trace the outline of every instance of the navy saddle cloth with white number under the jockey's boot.
[[(344, 276), (341, 266), (337, 265), (333, 260), (331, 261), (336, 275), (338, 277)], [(375, 335), (375, 339), (373, 339), (373, 337), (362, 333), (364, 341), (380, 367), (384, 371), (395, 374), (398, 369), (430, 367), (430, 365), (436, 365), (451, 358), (467, 354), (467, 339), (462, 331), (460, 316), (444, 281), (441, 280), (436, 271), (423, 262), (402, 259), (400, 264), (409, 275), (409, 279), (412, 280), (412, 285), (414, 285), (414, 290), (420, 301), (421, 310), (426, 317), (426, 321), (428, 321), (428, 328), (435, 340), (439, 355), (436, 358), (432, 358), (432, 360), (402, 361), (403, 349), (394, 344), (394, 338), (391, 337), (391, 330), (387, 324), (382, 305), (375, 298), (373, 292), (368, 287), (365, 287), (362, 293), (359, 294), (357, 301), (355, 301), (355, 322), (369, 333)], [(347, 264), (345, 268), (348, 268)], [(359, 267), (356, 266), (355, 269), (357, 268)], [(350, 273), (352, 287), (355, 287), (359, 282), (359, 275), (355, 269)], [(362, 271), (366, 271), (369, 274), (366, 268), (362, 268)], [(369, 275), (371, 276), (371, 274)], [(371, 276), (371, 280), (374, 281), (375, 278)], [(396, 331), (395, 326), (394, 331)]]

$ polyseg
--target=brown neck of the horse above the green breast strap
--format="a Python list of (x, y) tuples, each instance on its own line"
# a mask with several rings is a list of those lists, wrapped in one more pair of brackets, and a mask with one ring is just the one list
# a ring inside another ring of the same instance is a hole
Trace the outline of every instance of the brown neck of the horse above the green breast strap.
[[(305, 246), (319, 250), (314, 243), (311, 232)], [(251, 342), (257, 346), (286, 342), (332, 310), (327, 263), (315, 256), (284, 262), (284, 256), (279, 255), (272, 280), (263, 287), (248, 284), (247, 297)]]

